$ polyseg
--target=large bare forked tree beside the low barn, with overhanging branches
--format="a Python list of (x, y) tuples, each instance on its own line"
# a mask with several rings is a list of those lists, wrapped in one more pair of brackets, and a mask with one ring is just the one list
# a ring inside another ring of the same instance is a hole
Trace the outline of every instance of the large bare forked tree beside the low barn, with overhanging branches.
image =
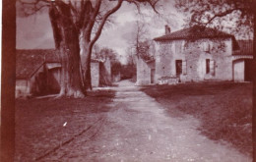
[(150, 5), (156, 11), (159, 0), (18, 0), (25, 15), (47, 7), (55, 47), (62, 64), (59, 96), (84, 97), (91, 86), (93, 46), (109, 17), (126, 1)]

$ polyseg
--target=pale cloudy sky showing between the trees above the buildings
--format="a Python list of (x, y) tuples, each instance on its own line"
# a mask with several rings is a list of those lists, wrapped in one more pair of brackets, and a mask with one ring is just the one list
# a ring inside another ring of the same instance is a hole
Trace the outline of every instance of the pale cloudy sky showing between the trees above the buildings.
[[(163, 11), (163, 12), (162, 12)], [(149, 38), (164, 34), (164, 25), (171, 30), (181, 29), (183, 16), (173, 7), (173, 1), (166, 1), (160, 8), (164, 19), (154, 14), (153, 10), (142, 9), (149, 27)], [(105, 27), (97, 40), (100, 47), (109, 47), (120, 55), (125, 55), (125, 49), (131, 42), (136, 20), (139, 19), (137, 9), (132, 4), (123, 3), (113, 15), (114, 24)], [(37, 13), (28, 18), (17, 17), (17, 48), (18, 49), (48, 49), (54, 48), (54, 40), (47, 12)]]

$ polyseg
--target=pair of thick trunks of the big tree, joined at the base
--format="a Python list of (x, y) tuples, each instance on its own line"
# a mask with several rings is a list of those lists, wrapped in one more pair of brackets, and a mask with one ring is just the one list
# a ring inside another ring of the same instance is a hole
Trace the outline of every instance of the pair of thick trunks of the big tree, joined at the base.
[[(91, 34), (99, 14), (101, 0), (95, 7), (92, 1), (81, 1), (73, 6), (72, 1), (52, 1), (49, 16), (53, 28), (55, 46), (60, 51), (62, 71), (60, 96), (83, 97), (91, 83), (92, 48), (98, 39), (107, 18), (116, 12), (122, 4), (116, 6), (103, 16), (91, 39)], [(80, 7), (79, 7), (80, 6)], [(77, 10), (78, 8), (79, 10)]]

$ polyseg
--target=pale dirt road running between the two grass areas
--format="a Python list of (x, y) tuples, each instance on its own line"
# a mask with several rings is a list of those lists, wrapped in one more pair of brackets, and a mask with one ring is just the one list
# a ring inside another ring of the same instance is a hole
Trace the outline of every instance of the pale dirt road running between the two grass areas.
[(41, 161), (252, 161), (227, 144), (200, 135), (200, 123), (191, 116), (167, 116), (157, 101), (131, 82), (121, 81), (113, 89), (112, 111), (88, 133)]

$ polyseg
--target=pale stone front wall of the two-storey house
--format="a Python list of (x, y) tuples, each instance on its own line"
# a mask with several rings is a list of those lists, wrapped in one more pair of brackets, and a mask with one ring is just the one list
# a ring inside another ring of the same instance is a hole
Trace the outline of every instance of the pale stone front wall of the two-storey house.
[[(232, 80), (231, 39), (173, 40), (159, 44), (156, 77), (176, 76), (176, 60), (182, 60), (180, 81)], [(206, 59), (210, 73), (206, 73)]]

